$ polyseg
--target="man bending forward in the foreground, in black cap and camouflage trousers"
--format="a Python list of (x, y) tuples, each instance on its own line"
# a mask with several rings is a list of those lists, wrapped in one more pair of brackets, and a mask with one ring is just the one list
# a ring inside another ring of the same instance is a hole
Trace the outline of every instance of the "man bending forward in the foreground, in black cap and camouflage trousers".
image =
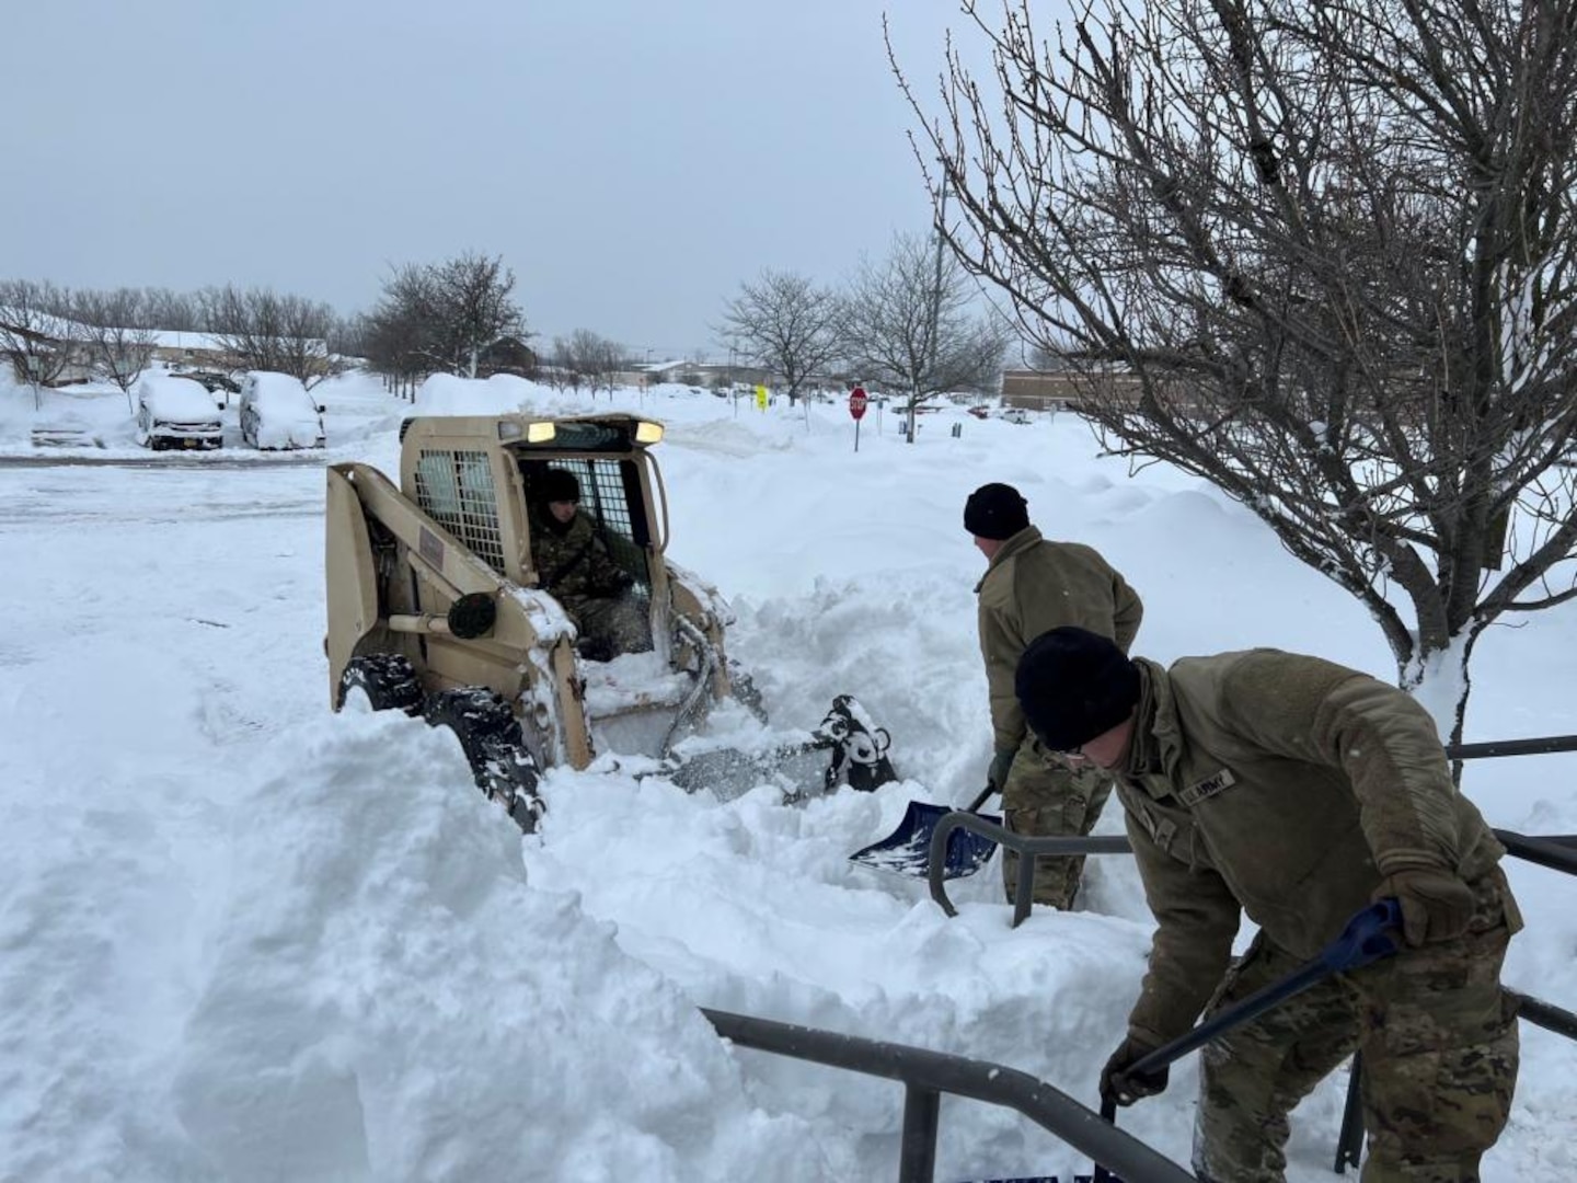
[[(1079, 628), (1038, 637), (1016, 691), (1047, 748), (1117, 774), (1158, 923), (1102, 1099), (1164, 1090), (1164, 1068), (1128, 1065), (1396, 898), (1396, 956), (1323, 978), (1205, 1046), (1194, 1172), (1281, 1183), (1288, 1112), (1356, 1049), (1363, 1183), (1476, 1183), (1517, 1080), (1500, 967), (1522, 916), (1504, 849), (1457, 792), (1429, 715), (1318, 658), (1258, 648), (1162, 667)], [(1228, 967), (1240, 913), (1260, 931)]]

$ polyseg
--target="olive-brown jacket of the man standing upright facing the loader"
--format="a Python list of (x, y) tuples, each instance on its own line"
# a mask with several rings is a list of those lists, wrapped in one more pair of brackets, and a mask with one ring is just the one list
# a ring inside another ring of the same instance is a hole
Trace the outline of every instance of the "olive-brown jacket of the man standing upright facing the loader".
[(1031, 640), (1077, 625), (1128, 653), (1145, 615), (1139, 595), (1094, 547), (1050, 543), (1033, 525), (1003, 543), (975, 592), (997, 751), (1017, 748), (1027, 732), (1012, 674)]

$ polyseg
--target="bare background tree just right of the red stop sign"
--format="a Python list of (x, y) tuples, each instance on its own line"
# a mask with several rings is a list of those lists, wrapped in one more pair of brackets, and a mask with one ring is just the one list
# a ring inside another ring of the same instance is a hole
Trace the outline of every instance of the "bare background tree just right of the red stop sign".
[(1008, 334), (975, 314), (975, 298), (957, 259), (915, 235), (894, 235), (885, 260), (859, 267), (844, 311), (847, 364), (904, 399), (910, 442), (921, 407), (954, 390), (992, 390), (1001, 377)]

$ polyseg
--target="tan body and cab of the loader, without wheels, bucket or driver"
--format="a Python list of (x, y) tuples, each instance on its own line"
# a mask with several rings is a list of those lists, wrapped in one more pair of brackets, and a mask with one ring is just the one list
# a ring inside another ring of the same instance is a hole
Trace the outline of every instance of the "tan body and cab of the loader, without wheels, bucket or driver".
[[(405, 662), (423, 700), (453, 691), (506, 703), (538, 768), (583, 768), (596, 745), (665, 751), (730, 694), (733, 674), (727, 601), (665, 555), (661, 438), (632, 415), (413, 416), (397, 486), (366, 464), (330, 465), (333, 705), (369, 662)], [(579, 511), (647, 612), (650, 639), (617, 664), (577, 655), (561, 604), (539, 592), (533, 516), (546, 513), (550, 467), (576, 475)]]

